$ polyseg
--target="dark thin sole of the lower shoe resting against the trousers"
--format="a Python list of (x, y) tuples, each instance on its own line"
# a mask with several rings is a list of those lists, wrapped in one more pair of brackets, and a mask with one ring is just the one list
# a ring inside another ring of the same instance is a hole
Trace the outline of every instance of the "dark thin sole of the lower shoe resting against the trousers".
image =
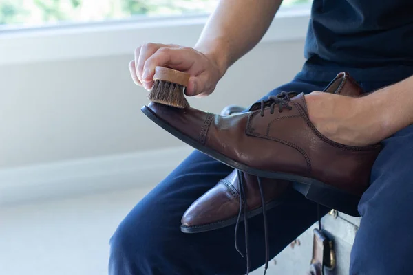
[[(272, 208), (275, 208), (275, 206), (279, 205), (280, 202), (281, 201), (277, 200), (277, 201), (270, 201), (266, 203), (265, 210), (270, 210)], [(246, 218), (250, 219), (259, 214), (262, 214), (262, 207), (255, 208), (254, 210), (247, 212)], [(217, 230), (220, 228), (226, 228), (227, 226), (234, 225), (235, 223), (237, 223), (237, 218), (238, 217), (233, 217), (231, 219), (226, 219), (224, 221), (216, 221), (215, 223), (208, 223), (204, 225), (195, 225), (195, 226), (181, 225), (181, 231), (184, 233), (193, 234), (193, 233), (208, 232), (208, 231)], [(242, 214), (242, 216), (240, 217), (240, 222), (241, 221), (244, 221), (244, 214)]]

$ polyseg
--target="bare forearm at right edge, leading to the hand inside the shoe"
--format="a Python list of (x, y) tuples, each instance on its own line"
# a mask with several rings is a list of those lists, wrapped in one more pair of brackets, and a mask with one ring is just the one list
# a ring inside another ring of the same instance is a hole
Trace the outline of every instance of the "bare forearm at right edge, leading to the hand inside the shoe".
[(360, 98), (366, 116), (377, 118), (381, 139), (413, 124), (413, 76)]

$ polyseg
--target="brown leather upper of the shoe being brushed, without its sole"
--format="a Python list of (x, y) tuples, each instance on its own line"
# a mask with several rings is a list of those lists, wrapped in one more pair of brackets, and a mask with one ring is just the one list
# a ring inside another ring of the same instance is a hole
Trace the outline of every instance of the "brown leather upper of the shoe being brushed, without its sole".
[[(346, 96), (360, 96), (361, 91), (346, 73), (326, 88)], [(366, 190), (372, 164), (381, 151), (379, 144), (358, 147), (329, 140), (308, 118), (304, 94), (295, 96), (288, 102), (290, 109), (284, 106), (281, 112), (277, 106), (272, 112), (268, 102), (263, 116), (256, 107), (229, 117), (191, 107), (156, 103), (148, 107), (193, 142), (251, 168), (310, 177), (353, 195)]]

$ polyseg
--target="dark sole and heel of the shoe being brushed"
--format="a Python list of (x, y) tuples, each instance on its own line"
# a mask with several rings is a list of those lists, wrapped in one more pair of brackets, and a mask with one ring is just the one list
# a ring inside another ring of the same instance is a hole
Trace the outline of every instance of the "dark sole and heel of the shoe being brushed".
[(251, 175), (256, 175), (258, 177), (267, 177), (270, 179), (284, 179), (288, 181), (293, 181), (293, 188), (298, 192), (301, 192), (307, 199), (311, 201), (315, 201), (323, 206), (328, 208), (335, 209), (339, 212), (343, 212), (344, 214), (349, 214), (353, 217), (359, 217), (360, 214), (357, 210), (357, 206), (361, 197), (356, 195), (352, 195), (346, 191), (339, 190), (333, 186), (328, 184), (324, 184), (317, 179), (312, 179), (310, 177), (303, 177), (299, 175), (293, 175), (288, 173), (282, 172), (272, 172), (266, 170), (260, 170), (256, 168), (251, 168), (242, 164), (240, 162), (236, 162), (221, 153), (208, 148), (200, 144), (197, 140), (193, 140), (191, 137), (184, 135), (176, 128), (174, 128), (171, 124), (159, 118), (153, 111), (147, 107), (142, 107), (141, 111), (147, 115), (147, 117), (158, 124), (162, 129), (171, 133), (171, 135), (177, 137), (182, 142), (185, 142), (189, 146), (192, 146), (196, 150), (209, 155), (213, 159), (218, 160), (218, 162), (222, 162), (228, 166), (231, 166), (234, 169), (242, 170), (244, 173), (248, 173)]

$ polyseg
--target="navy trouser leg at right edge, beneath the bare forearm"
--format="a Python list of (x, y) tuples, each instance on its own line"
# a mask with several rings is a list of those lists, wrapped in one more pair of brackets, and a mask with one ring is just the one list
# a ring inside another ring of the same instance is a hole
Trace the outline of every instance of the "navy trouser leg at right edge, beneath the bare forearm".
[(413, 126), (383, 142), (371, 185), (359, 203), (363, 217), (350, 274), (411, 274), (413, 257)]

